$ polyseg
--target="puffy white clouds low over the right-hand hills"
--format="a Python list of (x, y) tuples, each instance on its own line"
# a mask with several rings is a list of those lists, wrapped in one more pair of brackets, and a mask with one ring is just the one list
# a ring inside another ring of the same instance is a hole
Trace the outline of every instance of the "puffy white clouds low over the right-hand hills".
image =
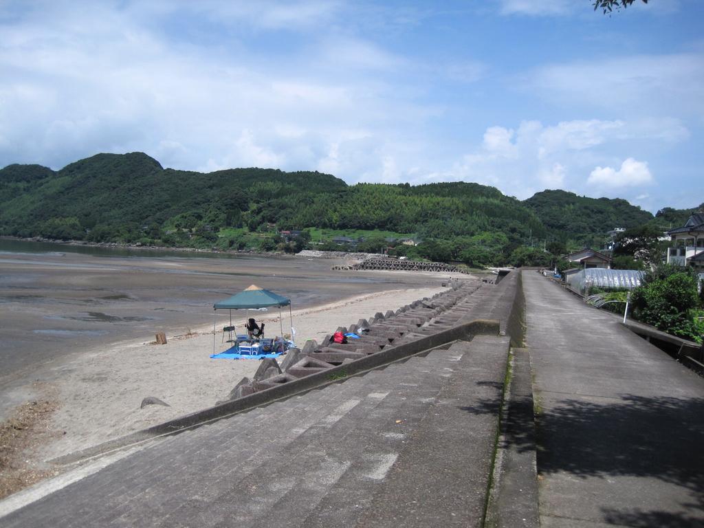
[[(612, 191), (655, 183), (647, 163), (628, 158), (618, 170), (605, 163), (612, 163), (610, 151), (641, 136), (638, 127), (621, 120), (572, 120), (555, 125), (523, 121), (515, 129), (489, 127), (481, 145), (449, 170), (434, 172), (432, 179), (492, 185), (520, 199), (546, 188), (608, 196)], [(600, 163), (603, 166), (595, 169)]]

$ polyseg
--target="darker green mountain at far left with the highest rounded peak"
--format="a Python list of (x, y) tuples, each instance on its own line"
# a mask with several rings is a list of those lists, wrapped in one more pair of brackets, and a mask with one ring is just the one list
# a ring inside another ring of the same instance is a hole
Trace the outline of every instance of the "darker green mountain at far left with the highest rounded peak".
[(130, 231), (161, 227), (180, 215), (220, 227), (228, 215), (249, 210), (251, 203), (301, 189), (315, 194), (346, 187), (318, 172), (164, 169), (144, 153), (97, 154), (58, 172), (9, 165), (0, 170), (0, 234), (124, 239)]

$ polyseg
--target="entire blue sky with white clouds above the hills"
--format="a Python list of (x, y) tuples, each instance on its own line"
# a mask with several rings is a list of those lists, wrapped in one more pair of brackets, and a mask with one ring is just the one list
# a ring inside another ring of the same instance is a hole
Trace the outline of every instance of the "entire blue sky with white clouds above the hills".
[(704, 1), (0, 0), (0, 167), (704, 201)]

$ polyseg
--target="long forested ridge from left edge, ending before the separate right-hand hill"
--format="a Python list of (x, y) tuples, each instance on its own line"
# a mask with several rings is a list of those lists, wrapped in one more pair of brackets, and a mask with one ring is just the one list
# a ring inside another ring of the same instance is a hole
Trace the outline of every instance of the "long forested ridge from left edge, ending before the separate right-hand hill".
[(98, 154), (58, 172), (0, 170), (1, 234), (165, 241), (166, 232), (256, 232), (272, 224), (437, 239), (496, 231), (519, 240), (544, 231), (520, 201), (473, 183), (348, 186), (318, 172), (258, 168), (203, 174), (164, 169), (144, 153)]

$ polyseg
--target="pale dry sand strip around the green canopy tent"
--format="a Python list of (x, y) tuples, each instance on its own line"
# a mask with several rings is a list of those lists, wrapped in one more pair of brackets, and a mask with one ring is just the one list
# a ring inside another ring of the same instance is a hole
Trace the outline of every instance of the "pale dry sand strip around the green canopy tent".
[[(320, 341), (339, 326), (396, 310), (444, 288), (401, 289), (346, 298), (325, 306), (295, 310), (296, 341)], [(288, 325), (284, 315), (284, 328)], [(236, 322), (240, 322), (238, 318)], [(279, 328), (274, 314), (261, 318)], [(222, 344), (218, 328), (215, 344)], [(165, 345), (125, 341), (109, 348), (86, 351), (54, 369), (56, 380), (36, 387), (39, 395), (56, 398), (58, 408), (48, 425), (41, 458), (51, 460), (108, 439), (144, 429), (171, 418), (213, 406), (227, 398), (239, 380), (251, 376), (257, 360), (210, 359), (213, 327), (201, 327), (186, 336), (167, 336)], [(280, 360), (283, 359), (280, 358)], [(140, 408), (142, 399), (154, 396), (169, 407)]]

